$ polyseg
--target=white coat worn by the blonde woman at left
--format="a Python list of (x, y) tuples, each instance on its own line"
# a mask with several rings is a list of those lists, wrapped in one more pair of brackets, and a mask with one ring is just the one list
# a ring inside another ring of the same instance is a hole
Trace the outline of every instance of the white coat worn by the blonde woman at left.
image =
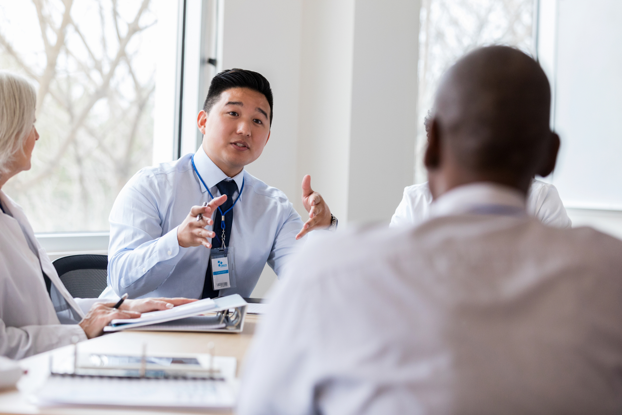
[[(72, 298), (22, 208), (1, 190), (0, 199), (12, 215), (0, 210), (0, 355), (21, 359), (86, 340), (78, 322), (97, 299)], [(52, 281), (50, 295), (42, 269)]]

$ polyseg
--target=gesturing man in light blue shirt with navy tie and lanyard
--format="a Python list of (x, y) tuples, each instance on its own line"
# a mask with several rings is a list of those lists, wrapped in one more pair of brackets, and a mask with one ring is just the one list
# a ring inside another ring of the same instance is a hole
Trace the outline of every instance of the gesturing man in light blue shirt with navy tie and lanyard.
[[(249, 297), (266, 263), (280, 275), (302, 236), (335, 228), (337, 220), (311, 189), (309, 175), (302, 184), (309, 212), (303, 223), (281, 190), (244, 170), (261, 155), (271, 122), (272, 91), (266, 78), (240, 69), (213, 78), (197, 117), (203, 133), (198, 151), (140, 170), (116, 198), (109, 217), (108, 287), (102, 297), (126, 292), (130, 298)], [(227, 198), (217, 186), (223, 184), (235, 189), (225, 240), (235, 278), (232, 287), (210, 293), (211, 242), (214, 238), (214, 248), (221, 245), (220, 215), (226, 213), (218, 211)]]

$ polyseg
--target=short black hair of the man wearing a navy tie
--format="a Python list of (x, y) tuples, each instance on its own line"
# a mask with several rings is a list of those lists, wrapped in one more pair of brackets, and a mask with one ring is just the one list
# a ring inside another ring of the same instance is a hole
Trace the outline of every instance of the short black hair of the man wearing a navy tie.
[(205, 98), (203, 111), (209, 114), (211, 107), (220, 100), (220, 95), (231, 88), (248, 88), (266, 96), (266, 100), (268, 100), (270, 105), (270, 125), (272, 125), (272, 90), (270, 83), (261, 73), (253, 72), (252, 70), (227, 69), (211, 78), (210, 90), (207, 93), (207, 98)]

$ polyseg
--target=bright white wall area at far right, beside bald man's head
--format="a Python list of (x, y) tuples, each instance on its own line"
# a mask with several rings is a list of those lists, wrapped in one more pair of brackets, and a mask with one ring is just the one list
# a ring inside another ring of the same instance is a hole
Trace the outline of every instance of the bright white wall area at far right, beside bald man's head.
[(553, 92), (562, 146), (555, 184), (573, 226), (622, 238), (622, 6), (540, 0), (538, 58)]

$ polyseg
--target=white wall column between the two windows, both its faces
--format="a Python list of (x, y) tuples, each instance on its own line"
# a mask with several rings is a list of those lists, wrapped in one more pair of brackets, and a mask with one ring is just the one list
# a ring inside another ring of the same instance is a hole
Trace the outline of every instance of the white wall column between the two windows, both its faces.
[(412, 184), (419, 7), (304, 2), (298, 175), (342, 225), (388, 223)]

